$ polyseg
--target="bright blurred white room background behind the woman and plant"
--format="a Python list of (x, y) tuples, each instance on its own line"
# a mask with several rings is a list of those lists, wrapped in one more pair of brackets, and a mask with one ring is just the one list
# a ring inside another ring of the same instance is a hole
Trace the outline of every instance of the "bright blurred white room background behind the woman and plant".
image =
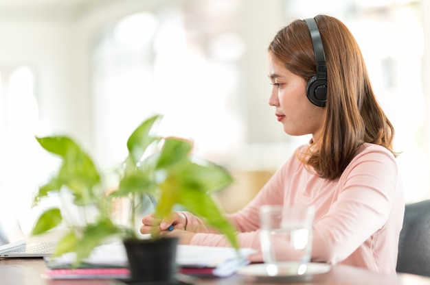
[(295, 18), (329, 14), (356, 37), (396, 128), (407, 202), (430, 199), (430, 1), (0, 0), (0, 177), (24, 230), (58, 161), (34, 136), (67, 134), (100, 169), (163, 114), (162, 134), (236, 177), (234, 212), (297, 145), (268, 104), (267, 47)]

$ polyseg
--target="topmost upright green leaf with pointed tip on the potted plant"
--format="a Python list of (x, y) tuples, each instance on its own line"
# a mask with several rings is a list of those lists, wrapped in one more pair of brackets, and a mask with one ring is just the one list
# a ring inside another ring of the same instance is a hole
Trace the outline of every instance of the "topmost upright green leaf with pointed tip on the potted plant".
[(139, 125), (139, 127), (135, 129), (133, 134), (131, 134), (131, 136), (128, 138), (128, 153), (130, 153), (134, 164), (139, 162), (149, 145), (151, 145), (155, 140), (157, 140), (157, 136), (150, 136), (149, 132), (155, 122), (159, 121), (161, 117), (161, 115), (155, 115), (151, 116), (149, 119), (146, 119), (141, 125)]

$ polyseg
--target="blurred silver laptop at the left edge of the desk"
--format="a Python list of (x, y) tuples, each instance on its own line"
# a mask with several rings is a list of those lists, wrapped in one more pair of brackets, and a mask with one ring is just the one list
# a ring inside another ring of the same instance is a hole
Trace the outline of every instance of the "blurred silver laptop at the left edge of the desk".
[(0, 258), (43, 258), (55, 251), (55, 243), (27, 242), (0, 183)]

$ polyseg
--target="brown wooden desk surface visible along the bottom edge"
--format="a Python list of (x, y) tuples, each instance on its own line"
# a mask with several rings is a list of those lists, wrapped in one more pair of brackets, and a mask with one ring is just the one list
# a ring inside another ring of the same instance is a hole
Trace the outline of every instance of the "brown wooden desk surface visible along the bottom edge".
[[(0, 259), (0, 284), (4, 285), (120, 285), (115, 280), (46, 280), (41, 277), (45, 271), (41, 259)], [(233, 275), (227, 278), (196, 280), (196, 285), (238, 285), (238, 284), (282, 284), (280, 282), (259, 282), (251, 278)], [(310, 282), (288, 283), (289, 285), (430, 285), (430, 277), (399, 274), (385, 276), (358, 269), (337, 265), (328, 273), (315, 276)]]

